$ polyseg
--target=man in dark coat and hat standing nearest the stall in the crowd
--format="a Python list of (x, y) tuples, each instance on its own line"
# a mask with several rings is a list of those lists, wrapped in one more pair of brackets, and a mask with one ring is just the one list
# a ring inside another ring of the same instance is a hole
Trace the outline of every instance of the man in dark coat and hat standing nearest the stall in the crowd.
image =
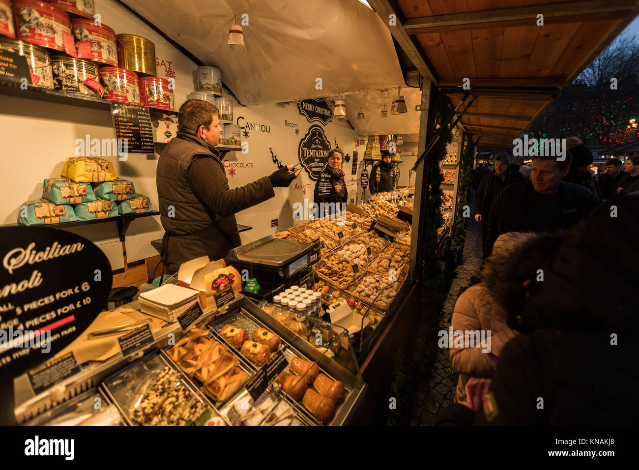
[(482, 178), (475, 193), (475, 220), (482, 223), (484, 258), (490, 254), (492, 249), (492, 246), (488, 247), (486, 245), (486, 240), (488, 239), (488, 215), (491, 204), (502, 189), (523, 181), (521, 173), (508, 168), (511, 159), (507, 153), (497, 153), (494, 162), (495, 171)]

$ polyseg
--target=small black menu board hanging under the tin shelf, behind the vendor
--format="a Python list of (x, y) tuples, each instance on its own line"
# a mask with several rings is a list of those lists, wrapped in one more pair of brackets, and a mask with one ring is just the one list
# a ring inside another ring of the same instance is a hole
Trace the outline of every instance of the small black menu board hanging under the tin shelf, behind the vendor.
[[(128, 153), (153, 153), (153, 124), (146, 106), (111, 103), (116, 137), (127, 142)], [(126, 140), (125, 140), (126, 139)]]

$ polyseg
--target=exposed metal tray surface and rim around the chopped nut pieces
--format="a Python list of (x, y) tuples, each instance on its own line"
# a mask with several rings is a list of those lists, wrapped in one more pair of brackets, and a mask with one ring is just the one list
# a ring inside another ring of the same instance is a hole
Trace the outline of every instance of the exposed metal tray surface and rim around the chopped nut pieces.
[[(204, 403), (204, 405), (209, 408), (209, 412), (212, 411), (208, 400), (204, 400), (204, 397), (197, 391), (189, 377), (187, 377), (173, 361), (164, 356), (164, 354), (160, 354), (160, 351), (157, 350), (135, 361), (119, 372), (110, 375), (102, 382), (102, 389), (105, 395), (118, 407), (119, 412), (129, 426), (138, 426), (137, 423), (132, 421), (129, 413), (130, 408), (135, 405), (135, 402), (132, 400), (139, 400), (141, 395), (146, 391), (146, 386), (149, 385), (146, 379), (155, 379), (166, 366), (176, 370), (180, 376), (180, 381), (192, 395), (196, 396), (197, 401)], [(144, 374), (144, 376), (139, 377), (138, 375), (140, 373)], [(203, 420), (203, 418), (207, 418), (209, 414), (208, 412), (204, 412), (203, 415), (196, 418), (191, 424), (198, 423), (200, 420)]]

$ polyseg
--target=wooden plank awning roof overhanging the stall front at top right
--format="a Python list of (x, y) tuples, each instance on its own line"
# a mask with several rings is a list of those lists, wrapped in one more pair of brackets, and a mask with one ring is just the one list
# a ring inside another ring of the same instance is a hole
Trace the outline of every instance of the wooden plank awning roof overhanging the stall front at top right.
[[(639, 13), (638, 0), (369, 0), (481, 145), (507, 146)], [(543, 26), (537, 26), (537, 15)]]

